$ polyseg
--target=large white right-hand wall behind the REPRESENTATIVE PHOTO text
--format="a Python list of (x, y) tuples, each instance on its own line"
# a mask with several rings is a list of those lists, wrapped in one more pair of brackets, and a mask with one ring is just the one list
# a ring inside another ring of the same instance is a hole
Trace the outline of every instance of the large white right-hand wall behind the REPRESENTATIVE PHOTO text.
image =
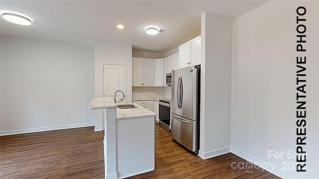
[[(297, 147), (296, 57), (303, 55), (296, 53), (299, 6), (307, 8), (306, 172), (296, 172), (290, 158)], [(233, 20), (231, 151), (282, 178), (319, 178), (318, 11), (318, 1), (270, 1)], [(276, 156), (268, 156), (268, 144)]]

